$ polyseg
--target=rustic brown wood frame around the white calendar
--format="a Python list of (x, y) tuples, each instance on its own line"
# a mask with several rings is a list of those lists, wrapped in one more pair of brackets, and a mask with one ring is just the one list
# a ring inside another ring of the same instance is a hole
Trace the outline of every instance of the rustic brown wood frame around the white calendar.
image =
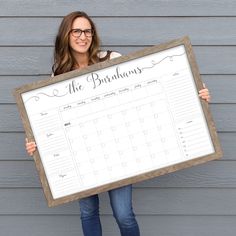
[[(190, 40), (186, 36), (186, 37), (183, 37), (181, 39), (177, 39), (177, 40), (173, 40), (171, 42), (164, 43), (164, 44), (161, 44), (161, 45), (149, 47), (149, 48), (140, 50), (138, 52), (131, 53), (131, 54), (126, 55), (126, 56), (121, 56), (119, 58), (115, 58), (115, 59), (110, 60), (110, 61), (101, 62), (101, 63), (95, 64), (95, 65), (89, 66), (88, 68), (83, 69), (81, 71), (75, 70), (75, 71), (68, 72), (68, 73), (65, 73), (65, 74), (62, 74), (62, 75), (58, 75), (58, 76), (55, 76), (53, 78), (49, 78), (49, 79), (46, 79), (46, 80), (43, 80), (43, 81), (38, 81), (38, 82), (35, 82), (35, 83), (32, 83), (32, 84), (27, 84), (27, 85), (24, 85), (20, 88), (15, 89), (14, 96), (15, 96), (15, 99), (16, 99), (16, 102), (17, 102), (17, 105), (18, 105), (18, 108), (19, 108), (20, 116), (21, 116), (23, 126), (24, 126), (24, 129), (25, 129), (25, 132), (26, 132), (26, 136), (31, 141), (35, 140), (34, 139), (34, 134), (32, 132), (31, 126), (30, 126), (29, 118), (28, 118), (28, 115), (27, 115), (27, 112), (26, 112), (26, 109), (25, 109), (25, 106), (24, 106), (24, 102), (23, 102), (22, 97), (21, 97), (22, 93), (25, 93), (25, 92), (28, 92), (28, 91), (31, 91), (31, 90), (34, 90), (34, 89), (38, 89), (38, 88), (41, 88), (41, 87), (45, 87), (45, 86), (48, 86), (48, 85), (51, 85), (51, 84), (54, 84), (54, 83), (57, 83), (57, 82), (60, 82), (60, 81), (64, 81), (64, 80), (67, 80), (67, 79), (71, 79), (71, 78), (76, 77), (76, 76), (91, 73), (91, 72), (94, 72), (96, 70), (108, 68), (108, 67), (111, 67), (111, 66), (123, 63), (123, 62), (127, 62), (127, 61), (130, 61), (130, 60), (135, 60), (137, 58), (141, 58), (141, 57), (153, 54), (153, 53), (158, 53), (158, 52), (161, 52), (163, 50), (170, 49), (170, 48), (173, 48), (173, 47), (176, 47), (176, 46), (179, 46), (179, 45), (184, 45), (184, 47), (185, 47), (186, 54), (187, 54), (187, 57), (188, 57), (188, 60), (189, 60), (189, 64), (190, 64), (190, 67), (191, 67), (191, 70), (192, 70), (193, 78), (195, 80), (196, 89), (199, 91), (200, 89), (203, 88), (203, 84), (202, 84), (202, 81), (201, 81), (201, 78), (200, 78), (200, 73), (199, 73), (199, 70), (198, 70), (198, 66), (197, 66), (197, 63), (196, 63), (196, 60), (195, 60), (195, 56), (194, 56), (194, 53), (193, 53), (193, 50), (192, 50)], [(48, 184), (48, 180), (47, 180), (47, 177), (46, 177), (46, 174), (45, 174), (45, 171), (44, 171), (44, 167), (43, 167), (40, 155), (39, 155), (39, 152), (36, 150), (35, 153), (34, 153), (33, 158), (34, 158), (36, 168), (37, 168), (38, 173), (39, 173), (40, 181), (41, 181), (41, 184), (42, 184), (42, 187), (43, 187), (43, 190), (44, 190), (44, 194), (45, 194), (47, 202), (48, 202), (48, 206), (49, 207), (57, 206), (57, 205), (60, 205), (60, 204), (66, 203), (66, 202), (70, 202), (70, 201), (73, 201), (73, 200), (76, 200), (76, 199), (80, 199), (80, 198), (83, 198), (83, 197), (86, 197), (86, 196), (89, 196), (89, 195), (101, 193), (101, 192), (104, 192), (104, 191), (107, 191), (107, 190), (110, 190), (110, 189), (114, 189), (114, 188), (117, 188), (117, 187), (120, 187), (120, 186), (124, 186), (124, 185), (127, 185), (127, 184), (133, 184), (133, 183), (136, 183), (136, 182), (139, 182), (139, 181), (147, 180), (147, 179), (157, 177), (157, 176), (160, 176), (160, 175), (163, 175), (163, 174), (166, 174), (166, 173), (174, 172), (174, 171), (177, 171), (177, 170), (180, 170), (180, 169), (195, 166), (195, 165), (198, 165), (198, 164), (201, 164), (201, 163), (208, 162), (210, 160), (220, 158), (222, 156), (222, 150), (221, 150), (221, 146), (220, 146), (219, 139), (218, 139), (218, 136), (217, 136), (216, 127), (214, 125), (214, 121), (213, 121), (212, 115), (211, 115), (210, 110), (209, 110), (209, 106), (208, 106), (207, 102), (204, 101), (204, 100), (201, 100), (201, 105), (202, 105), (202, 109), (203, 109), (203, 112), (204, 112), (204, 115), (205, 115), (206, 122), (208, 124), (208, 129), (209, 129), (209, 133), (211, 135), (212, 143), (214, 145), (215, 153), (213, 153), (211, 155), (202, 156), (202, 157), (199, 157), (199, 158), (196, 158), (196, 159), (193, 159), (193, 160), (185, 161), (185, 162), (182, 162), (182, 163), (179, 163), (179, 164), (174, 164), (174, 165), (171, 165), (171, 166), (168, 166), (168, 167), (165, 167), (165, 168), (157, 169), (157, 170), (154, 170), (154, 171), (151, 171), (151, 172), (148, 172), (148, 173), (144, 173), (144, 174), (141, 174), (141, 175), (138, 175), (138, 176), (133, 176), (133, 177), (130, 177), (130, 178), (127, 178), (127, 179), (117, 181), (117, 182), (109, 183), (109, 184), (106, 184), (106, 185), (103, 185), (103, 186), (98, 186), (98, 187), (95, 187), (93, 189), (85, 190), (83, 192), (75, 193), (75, 194), (68, 195), (68, 196), (65, 196), (65, 197), (62, 197), (62, 198), (53, 199), (51, 191), (50, 191), (50, 187), (49, 187), (49, 184)]]

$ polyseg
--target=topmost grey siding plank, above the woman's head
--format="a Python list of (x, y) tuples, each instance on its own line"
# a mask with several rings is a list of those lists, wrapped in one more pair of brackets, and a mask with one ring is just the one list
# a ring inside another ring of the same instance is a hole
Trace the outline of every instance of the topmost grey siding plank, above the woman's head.
[(1, 16), (64, 16), (83, 10), (91, 16), (234, 16), (233, 0), (1, 0)]

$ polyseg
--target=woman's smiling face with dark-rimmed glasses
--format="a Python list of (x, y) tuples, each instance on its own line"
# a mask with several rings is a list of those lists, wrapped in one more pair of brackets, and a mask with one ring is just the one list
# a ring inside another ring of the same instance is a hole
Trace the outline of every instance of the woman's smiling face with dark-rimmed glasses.
[[(82, 30), (82, 33), (80, 30)], [(74, 20), (72, 24), (73, 32), (69, 35), (69, 44), (74, 53), (84, 54), (88, 52), (93, 40), (90, 34), (91, 30), (92, 26), (86, 18), (78, 17)]]

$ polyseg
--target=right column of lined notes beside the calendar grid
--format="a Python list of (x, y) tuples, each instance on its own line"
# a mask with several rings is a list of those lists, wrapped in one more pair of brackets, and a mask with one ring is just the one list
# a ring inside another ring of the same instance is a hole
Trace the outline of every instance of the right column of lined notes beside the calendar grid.
[[(206, 120), (194, 88), (191, 71), (187, 68), (164, 80), (168, 104), (175, 124), (180, 148), (186, 160), (214, 152)], [(178, 92), (181, 88), (181, 94)]]

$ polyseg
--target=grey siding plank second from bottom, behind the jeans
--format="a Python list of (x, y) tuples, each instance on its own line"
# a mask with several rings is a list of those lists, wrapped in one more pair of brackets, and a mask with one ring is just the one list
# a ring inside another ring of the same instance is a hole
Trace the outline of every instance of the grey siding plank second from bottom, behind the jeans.
[[(135, 188), (136, 214), (150, 215), (229, 215), (235, 216), (236, 190), (233, 188)], [(16, 200), (17, 199), (17, 200)], [(100, 194), (101, 213), (111, 215), (108, 194)], [(222, 204), (223, 202), (223, 204)], [(78, 202), (48, 208), (42, 189), (1, 189), (1, 214), (79, 215)]]

